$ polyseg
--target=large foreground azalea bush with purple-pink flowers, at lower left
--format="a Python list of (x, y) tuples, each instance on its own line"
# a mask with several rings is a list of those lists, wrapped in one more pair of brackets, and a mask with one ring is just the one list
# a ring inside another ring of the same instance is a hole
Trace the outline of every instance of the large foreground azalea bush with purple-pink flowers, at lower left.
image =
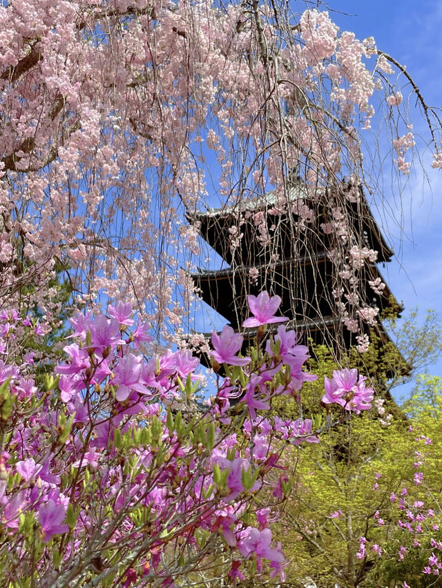
[[(144, 357), (148, 325), (135, 321), (131, 304), (73, 318), (66, 362), (39, 381), (24, 345), (26, 329), (35, 337), (38, 325), (2, 313), (6, 585), (180, 585), (213, 557), (232, 583), (284, 578), (270, 525), (290, 492), (281, 455), (318, 442), (330, 424), (266, 415), (276, 396), (300, 403), (303, 382), (316, 378), (303, 369), (309, 355), (296, 333), (280, 325), (266, 335), (268, 323), (287, 320), (275, 316), (279, 303), (265, 292), (249, 297), (246, 324), (258, 332), (248, 357), (238, 356), (242, 335), (229, 326), (213, 333), (217, 386), (206, 402), (190, 351)], [(364, 380), (336, 372), (327, 402), (347, 415), (369, 408), (373, 391)]]

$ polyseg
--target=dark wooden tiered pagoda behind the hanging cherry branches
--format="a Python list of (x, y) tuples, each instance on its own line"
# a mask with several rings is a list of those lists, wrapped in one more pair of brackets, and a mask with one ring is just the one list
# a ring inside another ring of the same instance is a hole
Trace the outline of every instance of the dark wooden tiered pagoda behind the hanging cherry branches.
[[(352, 197), (347, 197), (350, 190)], [(280, 313), (289, 317), (289, 326), (317, 344), (327, 344), (337, 357), (350, 346), (361, 344), (361, 333), (375, 331), (381, 342), (387, 342), (380, 316), (385, 311), (398, 315), (402, 308), (378, 264), (389, 262), (393, 251), (362, 188), (357, 188), (355, 196), (355, 188), (343, 183), (338, 199), (323, 190), (323, 195), (312, 201), (297, 179), (288, 183), (282, 202), (275, 191), (240, 199), (236, 206), (189, 215), (224, 265), (193, 273), (202, 300), (233, 329), (241, 330), (248, 294), (266, 290), (279, 295)], [(327, 230), (330, 222), (334, 222), (334, 231)], [(377, 259), (369, 253), (356, 269), (354, 259), (348, 259), (349, 277), (342, 257), (339, 265), (334, 263), (337, 251), (341, 256), (346, 251), (376, 251)], [(358, 304), (354, 304), (352, 315), (351, 303), (356, 297)], [(373, 308), (369, 320), (356, 310), (361, 306)], [(245, 347), (254, 333), (249, 330), (244, 335)]]

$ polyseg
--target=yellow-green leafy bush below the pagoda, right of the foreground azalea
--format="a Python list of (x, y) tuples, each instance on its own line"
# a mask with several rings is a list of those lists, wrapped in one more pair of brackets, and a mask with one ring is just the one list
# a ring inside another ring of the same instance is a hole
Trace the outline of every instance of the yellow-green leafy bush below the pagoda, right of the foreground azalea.
[[(318, 586), (346, 587), (366, 580), (370, 586), (369, 568), (378, 556), (358, 560), (358, 538), (381, 540), (374, 513), (398, 491), (410, 457), (401, 422), (381, 427), (371, 414), (330, 429), (318, 445), (298, 449), (291, 469), (294, 491), (280, 525), (279, 538), (291, 560), (287, 579), (308, 576)], [(376, 473), (383, 479), (382, 491), (373, 491)]]

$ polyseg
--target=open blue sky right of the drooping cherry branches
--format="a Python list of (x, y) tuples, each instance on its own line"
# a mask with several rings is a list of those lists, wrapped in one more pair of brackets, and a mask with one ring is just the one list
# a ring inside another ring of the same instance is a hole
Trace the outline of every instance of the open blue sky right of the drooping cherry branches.
[[(352, 30), (359, 39), (374, 37), (378, 49), (407, 66), (427, 104), (442, 106), (442, 1), (332, 0), (327, 6), (341, 30)], [(414, 130), (427, 139), (419, 113), (414, 115)], [(429, 150), (423, 151), (423, 161), (427, 178), (416, 164), (401, 200), (390, 169), (385, 170), (389, 211), (374, 214), (396, 252), (396, 259), (382, 270), (396, 298), (405, 308), (419, 305), (422, 314), (434, 308), (442, 317), (442, 171), (431, 168)], [(442, 375), (442, 358), (427, 372)], [(394, 395), (398, 398), (411, 387), (400, 386)]]

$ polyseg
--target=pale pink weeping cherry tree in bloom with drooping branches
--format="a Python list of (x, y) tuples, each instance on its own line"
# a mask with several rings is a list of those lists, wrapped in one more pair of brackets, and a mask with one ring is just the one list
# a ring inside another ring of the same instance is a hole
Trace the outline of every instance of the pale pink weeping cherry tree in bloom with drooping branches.
[[(372, 38), (341, 32), (325, 11), (306, 10), (293, 26), (285, 9), (275, 19), (240, 2), (114, 5), (1, 6), (1, 294), (19, 300), (26, 284), (28, 303), (56, 317), (48, 291), (59, 264), (79, 302), (102, 293), (130, 300), (164, 340), (188, 308), (188, 271), (200, 255), (195, 211), (276, 190), (274, 210), (296, 208), (299, 230), (316, 218), (311, 202), (324, 199), (324, 230), (348, 239), (345, 207), (328, 188), (348, 173), (345, 199), (358, 203), (359, 133), (393, 70)], [(386, 87), (388, 107), (403, 108), (395, 81)], [(407, 170), (412, 132), (393, 136)], [(304, 194), (290, 202), (295, 167)], [(207, 202), (209, 184), (218, 202)], [(265, 215), (250, 215), (271, 248)]]

